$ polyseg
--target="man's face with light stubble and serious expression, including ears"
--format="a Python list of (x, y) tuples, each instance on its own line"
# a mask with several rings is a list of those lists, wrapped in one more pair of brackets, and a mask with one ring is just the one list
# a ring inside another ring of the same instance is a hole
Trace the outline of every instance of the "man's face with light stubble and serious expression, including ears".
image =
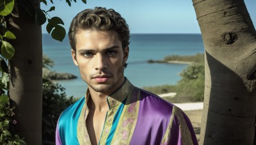
[(124, 63), (129, 47), (122, 50), (116, 32), (82, 30), (76, 34), (76, 52), (72, 58), (90, 91), (106, 95), (124, 82)]

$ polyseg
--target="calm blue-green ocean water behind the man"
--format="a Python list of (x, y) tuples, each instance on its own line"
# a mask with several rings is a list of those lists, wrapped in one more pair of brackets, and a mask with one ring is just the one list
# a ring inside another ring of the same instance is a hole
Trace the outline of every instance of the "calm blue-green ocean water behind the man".
[[(147, 60), (163, 60), (168, 55), (195, 55), (204, 53), (201, 34), (131, 34), (128, 66), (125, 77), (138, 87), (174, 85), (186, 64), (149, 64)], [(57, 81), (66, 88), (67, 96), (83, 97), (87, 85), (71, 57), (66, 36), (63, 42), (43, 34), (43, 53), (54, 61), (52, 71), (75, 74), (77, 79)]]

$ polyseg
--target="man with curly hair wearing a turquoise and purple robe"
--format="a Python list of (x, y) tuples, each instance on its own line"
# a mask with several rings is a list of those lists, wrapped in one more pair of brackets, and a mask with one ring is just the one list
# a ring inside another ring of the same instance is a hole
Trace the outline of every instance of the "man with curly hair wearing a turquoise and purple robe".
[(77, 14), (68, 32), (86, 96), (61, 113), (56, 144), (198, 144), (179, 107), (124, 77), (129, 28), (115, 10)]

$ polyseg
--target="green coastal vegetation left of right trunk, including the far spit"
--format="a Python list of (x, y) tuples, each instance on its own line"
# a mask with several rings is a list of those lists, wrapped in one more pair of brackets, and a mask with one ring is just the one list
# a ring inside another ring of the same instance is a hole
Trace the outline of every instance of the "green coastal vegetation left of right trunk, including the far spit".
[(164, 57), (163, 62), (168, 61), (191, 62), (179, 76), (180, 81), (176, 85), (145, 86), (143, 89), (161, 94), (176, 92), (174, 97), (163, 97), (169, 102), (198, 102), (204, 100), (204, 54), (179, 56), (170, 55)]

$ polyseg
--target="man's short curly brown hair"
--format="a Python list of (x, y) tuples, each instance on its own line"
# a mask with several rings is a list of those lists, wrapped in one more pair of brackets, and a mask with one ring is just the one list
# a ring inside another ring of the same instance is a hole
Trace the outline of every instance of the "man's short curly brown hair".
[(69, 31), (68, 39), (70, 46), (76, 52), (76, 34), (78, 31), (86, 29), (96, 29), (99, 31), (115, 31), (122, 42), (122, 48), (130, 43), (129, 26), (120, 13), (113, 9), (107, 10), (102, 7), (95, 7), (94, 10), (86, 9), (81, 11), (73, 18)]

